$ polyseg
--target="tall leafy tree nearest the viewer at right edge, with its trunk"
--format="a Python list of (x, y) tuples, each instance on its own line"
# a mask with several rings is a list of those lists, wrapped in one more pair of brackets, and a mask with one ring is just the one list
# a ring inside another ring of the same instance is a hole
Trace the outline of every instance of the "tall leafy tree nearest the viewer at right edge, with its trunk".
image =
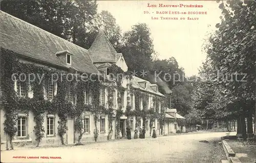
[[(255, 109), (251, 103), (255, 100), (255, 3), (222, 1), (219, 8), (223, 16), (216, 25), (218, 30), (209, 38), (207, 58), (212, 69), (218, 71), (217, 79), (221, 79), (218, 81), (225, 90), (225, 98), (240, 113), (238, 122), (246, 138), (245, 118), (252, 121)], [(251, 132), (252, 124), (248, 127)]]

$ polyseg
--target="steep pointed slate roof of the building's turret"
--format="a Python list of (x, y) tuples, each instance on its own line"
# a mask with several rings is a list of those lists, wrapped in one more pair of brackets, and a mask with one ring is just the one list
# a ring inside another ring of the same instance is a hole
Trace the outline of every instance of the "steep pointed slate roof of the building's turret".
[(89, 48), (89, 52), (93, 63), (116, 63), (117, 52), (101, 29)]

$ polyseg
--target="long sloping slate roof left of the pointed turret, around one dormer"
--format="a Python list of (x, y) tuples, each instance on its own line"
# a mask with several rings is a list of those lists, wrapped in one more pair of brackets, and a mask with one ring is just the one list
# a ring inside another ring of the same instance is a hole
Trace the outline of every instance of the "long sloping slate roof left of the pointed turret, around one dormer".
[[(1, 48), (62, 67), (72, 67), (83, 73), (98, 73), (89, 52), (65, 39), (0, 11)], [(69, 51), (72, 65), (67, 66), (55, 53)]]

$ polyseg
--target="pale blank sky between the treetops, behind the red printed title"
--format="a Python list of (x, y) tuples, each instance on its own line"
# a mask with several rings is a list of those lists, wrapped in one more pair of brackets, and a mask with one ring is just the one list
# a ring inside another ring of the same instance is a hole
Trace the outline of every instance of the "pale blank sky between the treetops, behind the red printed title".
[[(157, 7), (147, 7), (148, 4)], [(159, 7), (159, 4), (183, 6)], [(184, 7), (185, 5), (203, 7)], [(116, 18), (122, 32), (131, 30), (132, 26), (138, 23), (146, 23), (151, 30), (158, 58), (175, 57), (179, 66), (184, 68), (185, 76), (198, 74), (198, 68), (206, 57), (205, 52), (202, 52), (204, 39), (209, 32), (216, 30), (215, 25), (220, 22), (221, 16), (216, 1), (98, 1), (98, 12), (102, 10), (109, 11)], [(157, 14), (162, 11), (197, 11), (207, 14)], [(178, 20), (166, 20), (161, 17), (177, 17)], [(180, 20), (181, 17), (185, 20)], [(188, 20), (188, 17), (198, 20)]]

